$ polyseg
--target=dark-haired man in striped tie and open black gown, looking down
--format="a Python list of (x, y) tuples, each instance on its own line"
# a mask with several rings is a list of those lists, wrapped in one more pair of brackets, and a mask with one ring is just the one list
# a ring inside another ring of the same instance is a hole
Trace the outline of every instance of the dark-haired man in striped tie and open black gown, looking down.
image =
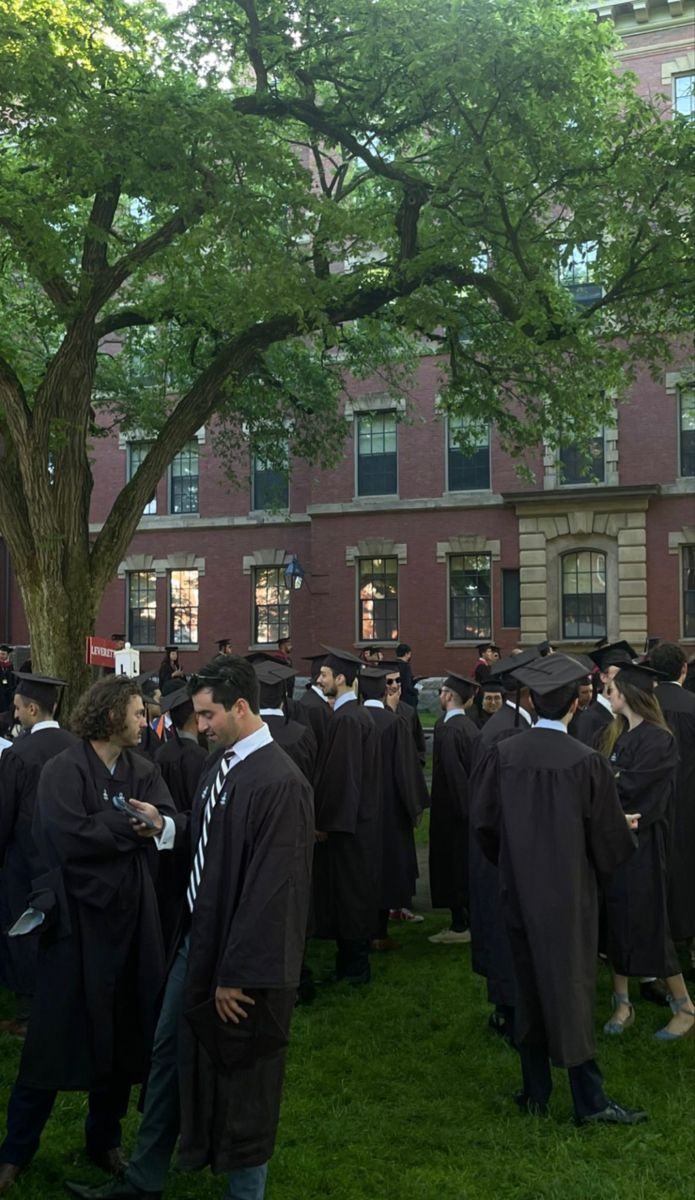
[(259, 715), (250, 662), (217, 656), (188, 691), (199, 732), (218, 748), (191, 816), (188, 929), (164, 991), (130, 1165), (102, 1187), (67, 1184), (92, 1200), (158, 1200), (179, 1132), (182, 1168), (227, 1174), (224, 1200), (263, 1200), (275, 1144), (308, 908), (313, 794)]

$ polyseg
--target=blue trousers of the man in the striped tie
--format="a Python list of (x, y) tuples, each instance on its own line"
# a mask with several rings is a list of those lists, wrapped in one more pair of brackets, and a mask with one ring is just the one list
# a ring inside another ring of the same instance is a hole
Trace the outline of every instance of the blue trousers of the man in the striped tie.
[[(188, 938), (169, 971), (152, 1046), (145, 1108), (125, 1177), (143, 1192), (163, 1192), (179, 1136), (179, 1021), (188, 964)], [(268, 1163), (229, 1171), (224, 1200), (263, 1200)]]

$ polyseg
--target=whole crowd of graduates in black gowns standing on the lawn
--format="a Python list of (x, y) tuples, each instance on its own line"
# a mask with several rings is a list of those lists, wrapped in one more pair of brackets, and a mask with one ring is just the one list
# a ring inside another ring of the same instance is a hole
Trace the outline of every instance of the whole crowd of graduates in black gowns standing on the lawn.
[[(301, 695), (290, 649), (241, 658), (221, 640), (186, 678), (167, 648), (156, 672), (94, 684), (68, 727), (61, 680), (0, 661), (2, 1031), (24, 1040), (0, 1193), (73, 1090), (112, 1176), (73, 1194), (161, 1196), (179, 1140), (180, 1165), (260, 1200), (292, 1010), (316, 997), (307, 946), (334, 941), (332, 978), (353, 986), (397, 952), (394, 923), (423, 919), (427, 808), (432, 907), (450, 912), (430, 941), (471, 943), (523, 1114), (546, 1114), (553, 1063), (579, 1123), (647, 1118), (604, 1090), (601, 959), (607, 1037), (635, 1022), (635, 989), (671, 1009), (661, 1043), (694, 1033), (695, 695), (678, 646), (481, 646), (471, 674), (441, 680), (430, 790), (411, 648), (322, 647)], [(121, 1118), (145, 1080), (127, 1164)]]

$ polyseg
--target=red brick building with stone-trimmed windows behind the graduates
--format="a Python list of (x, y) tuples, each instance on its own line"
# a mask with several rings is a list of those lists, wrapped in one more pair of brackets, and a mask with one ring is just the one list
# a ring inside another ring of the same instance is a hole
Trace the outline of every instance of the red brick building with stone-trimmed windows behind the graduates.
[[(691, 0), (599, 7), (623, 37), (621, 59), (649, 94), (693, 114)], [(586, 277), (581, 264), (574, 286)], [(295, 659), (318, 643), (407, 641), (420, 673), (469, 666), (478, 642), (504, 650), (550, 637), (599, 636), (641, 648), (647, 635), (695, 648), (695, 368), (642, 372), (597, 431), (591, 469), (571, 446), (527, 458), (529, 487), (495, 430), (463, 456), (437, 414), (437, 365), (421, 361), (406, 408), (360, 384), (344, 401), (344, 458), (287, 476), (247, 464), (230, 488), (210, 431), (180, 454), (143, 515), (109, 586), (97, 632), (125, 629), (154, 664), (178, 642), (184, 665), (215, 640), (245, 653), (292, 635)], [(100, 527), (142, 443), (94, 446)], [(301, 589), (287, 587), (296, 558)], [(0, 546), (0, 636), (26, 638)]]

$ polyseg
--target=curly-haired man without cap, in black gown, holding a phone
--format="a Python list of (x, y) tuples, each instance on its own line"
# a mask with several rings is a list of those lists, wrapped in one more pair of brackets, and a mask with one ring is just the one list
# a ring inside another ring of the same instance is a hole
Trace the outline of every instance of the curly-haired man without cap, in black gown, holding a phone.
[(43, 874), (14, 926), (38, 930), (37, 984), (0, 1146), (0, 1193), (31, 1162), (59, 1091), (89, 1092), (92, 1162), (114, 1174), (125, 1165), (121, 1118), (145, 1076), (164, 982), (155, 839), (166, 848), (175, 832), (158, 767), (134, 752), (144, 724), (138, 683), (102, 679), (73, 713), (79, 740), (38, 780), (32, 835)]

